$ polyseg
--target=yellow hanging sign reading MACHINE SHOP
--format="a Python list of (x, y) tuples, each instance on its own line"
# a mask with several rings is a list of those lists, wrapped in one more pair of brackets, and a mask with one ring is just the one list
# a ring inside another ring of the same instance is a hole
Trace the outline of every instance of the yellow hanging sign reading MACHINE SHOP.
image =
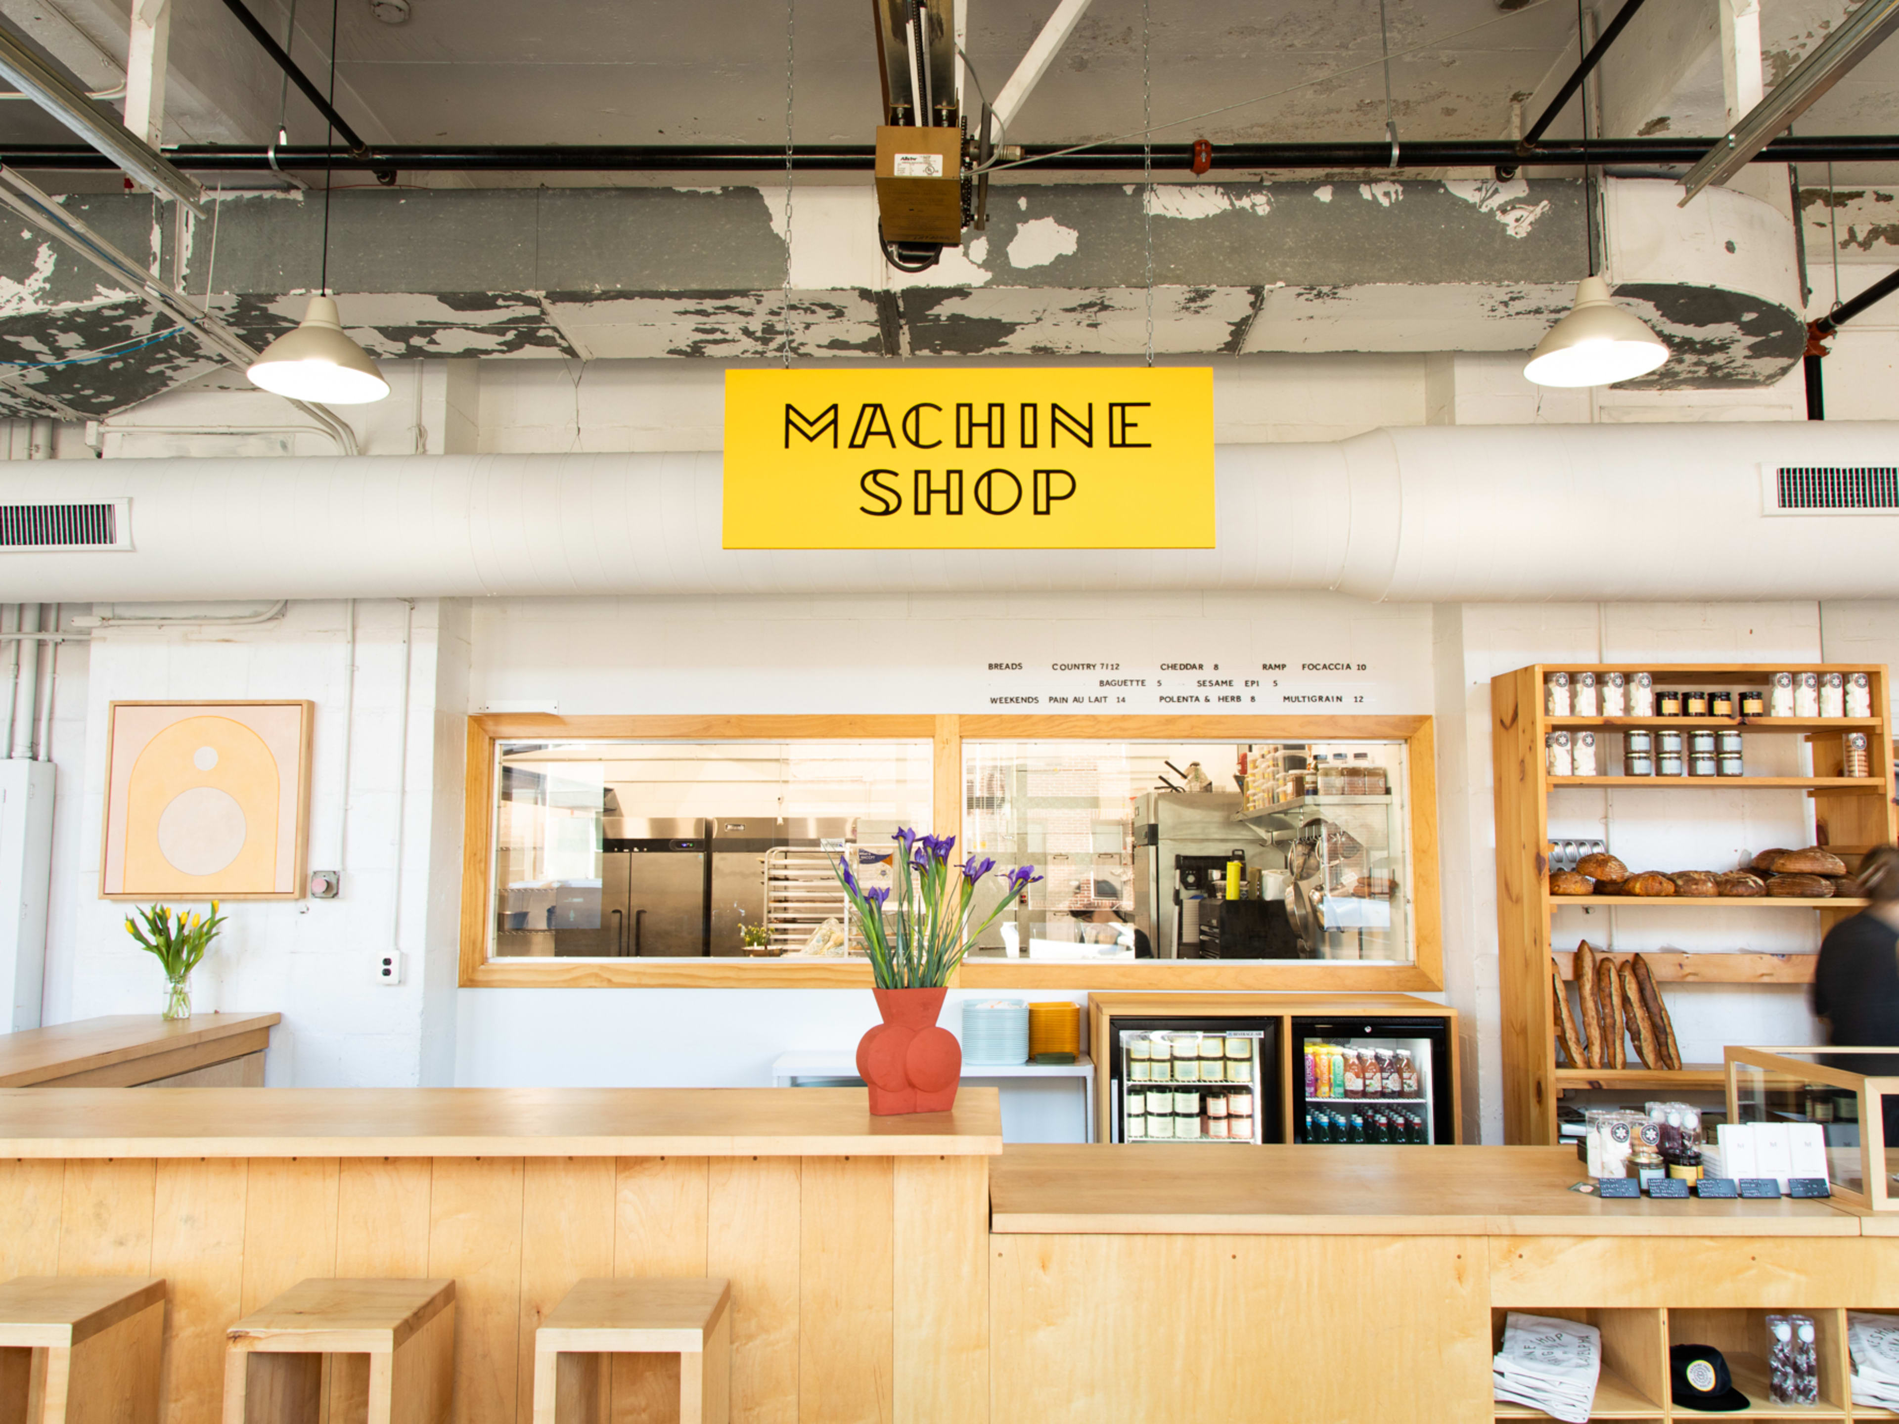
[(1206, 366), (725, 372), (725, 549), (1212, 547)]

